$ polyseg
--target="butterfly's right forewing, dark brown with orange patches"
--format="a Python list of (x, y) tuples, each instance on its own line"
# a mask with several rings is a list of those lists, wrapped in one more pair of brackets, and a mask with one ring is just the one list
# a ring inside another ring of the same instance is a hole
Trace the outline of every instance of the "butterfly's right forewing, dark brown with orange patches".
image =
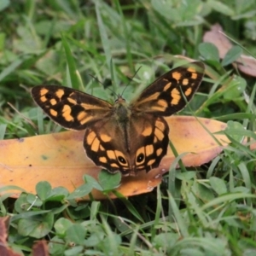
[(137, 112), (169, 116), (183, 109), (194, 96), (204, 75), (204, 64), (195, 61), (176, 67), (143, 90), (131, 108)]

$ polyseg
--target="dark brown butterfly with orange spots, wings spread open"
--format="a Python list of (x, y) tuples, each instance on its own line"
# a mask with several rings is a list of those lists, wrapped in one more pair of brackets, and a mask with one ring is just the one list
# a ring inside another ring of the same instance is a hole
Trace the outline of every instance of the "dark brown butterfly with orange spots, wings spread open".
[(176, 67), (130, 103), (118, 95), (110, 104), (58, 85), (35, 86), (32, 98), (55, 123), (85, 131), (85, 153), (96, 166), (135, 176), (160, 165), (169, 144), (164, 117), (186, 106), (201, 84), (204, 69), (200, 61)]

